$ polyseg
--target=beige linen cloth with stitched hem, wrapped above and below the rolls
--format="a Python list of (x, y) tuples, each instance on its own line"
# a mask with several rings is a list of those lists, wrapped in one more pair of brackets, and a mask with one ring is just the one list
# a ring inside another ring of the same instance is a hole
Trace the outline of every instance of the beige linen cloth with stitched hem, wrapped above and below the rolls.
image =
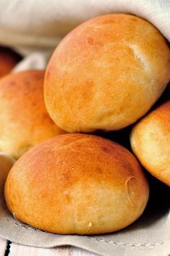
[[(112, 12), (143, 17), (170, 41), (169, 0), (1, 0), (0, 44), (24, 55), (14, 71), (43, 69), (55, 46), (73, 27), (91, 17)], [(153, 184), (151, 200), (143, 216), (127, 229), (102, 236), (55, 235), (19, 223), (6, 209), (1, 191), (0, 236), (35, 247), (74, 245), (99, 255), (168, 256), (169, 189), (158, 181)]]

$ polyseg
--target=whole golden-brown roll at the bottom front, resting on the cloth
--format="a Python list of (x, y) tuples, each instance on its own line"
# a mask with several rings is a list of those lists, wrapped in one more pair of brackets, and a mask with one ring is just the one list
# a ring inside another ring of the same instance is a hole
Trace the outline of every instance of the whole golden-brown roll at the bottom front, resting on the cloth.
[(94, 135), (53, 137), (14, 164), (6, 205), (24, 223), (56, 234), (104, 234), (143, 213), (146, 177), (121, 145)]

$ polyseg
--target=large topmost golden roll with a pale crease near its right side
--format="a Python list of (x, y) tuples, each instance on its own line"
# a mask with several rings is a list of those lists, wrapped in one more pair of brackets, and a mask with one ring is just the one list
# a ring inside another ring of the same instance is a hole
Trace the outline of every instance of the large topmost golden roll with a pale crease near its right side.
[(170, 80), (170, 51), (151, 23), (95, 17), (66, 35), (45, 73), (45, 104), (68, 132), (117, 130), (151, 108)]

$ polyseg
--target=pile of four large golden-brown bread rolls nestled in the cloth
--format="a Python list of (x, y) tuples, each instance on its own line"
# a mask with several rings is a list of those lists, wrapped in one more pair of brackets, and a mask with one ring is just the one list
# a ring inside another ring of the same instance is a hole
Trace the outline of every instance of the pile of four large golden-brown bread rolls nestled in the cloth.
[[(4, 187), (15, 218), (55, 234), (104, 234), (136, 221), (149, 197), (142, 166), (170, 186), (169, 99), (153, 106), (169, 80), (165, 38), (130, 14), (76, 27), (45, 79), (43, 71), (2, 78), (0, 150), (19, 158)], [(103, 136), (130, 125), (135, 155)]]

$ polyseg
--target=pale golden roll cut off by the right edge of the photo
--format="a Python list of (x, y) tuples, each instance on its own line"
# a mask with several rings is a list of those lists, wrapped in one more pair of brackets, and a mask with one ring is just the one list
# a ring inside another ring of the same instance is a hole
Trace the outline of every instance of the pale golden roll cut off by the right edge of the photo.
[(170, 186), (170, 100), (133, 127), (130, 142), (146, 170)]

